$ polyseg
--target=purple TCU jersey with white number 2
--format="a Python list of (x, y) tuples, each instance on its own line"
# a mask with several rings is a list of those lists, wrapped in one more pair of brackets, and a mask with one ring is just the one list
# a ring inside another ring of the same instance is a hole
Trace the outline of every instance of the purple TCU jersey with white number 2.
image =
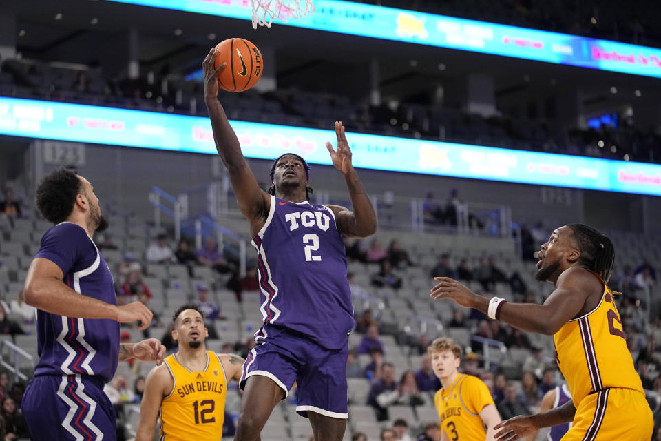
[(264, 325), (255, 341), (280, 326), (341, 349), (353, 329), (346, 252), (335, 215), (324, 205), (271, 196), (269, 217), (253, 238)]

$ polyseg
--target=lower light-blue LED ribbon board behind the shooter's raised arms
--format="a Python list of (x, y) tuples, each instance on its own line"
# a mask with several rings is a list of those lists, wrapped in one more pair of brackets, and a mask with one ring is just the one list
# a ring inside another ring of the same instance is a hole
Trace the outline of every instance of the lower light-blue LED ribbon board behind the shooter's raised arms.
[[(330, 165), (335, 132), (231, 121), (245, 156), (296, 152)], [(185, 116), (0, 96), (0, 135), (216, 154), (211, 122)], [(355, 167), (661, 196), (661, 165), (348, 133)]]

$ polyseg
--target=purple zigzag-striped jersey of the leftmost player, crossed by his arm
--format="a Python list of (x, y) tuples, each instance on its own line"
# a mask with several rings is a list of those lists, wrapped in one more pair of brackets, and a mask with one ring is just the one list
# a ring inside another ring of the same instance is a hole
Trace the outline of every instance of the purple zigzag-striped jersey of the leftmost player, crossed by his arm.
[[(41, 238), (36, 257), (60, 267), (63, 282), (83, 296), (117, 304), (112, 274), (96, 245), (82, 227), (63, 222)], [(39, 362), (34, 375), (79, 373), (109, 382), (119, 356), (119, 322), (110, 319), (36, 314)]]

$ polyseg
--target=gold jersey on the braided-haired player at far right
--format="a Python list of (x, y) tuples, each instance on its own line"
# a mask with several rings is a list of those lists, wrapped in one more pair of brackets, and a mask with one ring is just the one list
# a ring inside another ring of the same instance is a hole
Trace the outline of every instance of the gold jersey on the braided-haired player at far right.
[(578, 404), (588, 393), (608, 387), (642, 391), (633, 367), (618, 308), (608, 287), (601, 302), (585, 316), (565, 323), (553, 337), (558, 367)]

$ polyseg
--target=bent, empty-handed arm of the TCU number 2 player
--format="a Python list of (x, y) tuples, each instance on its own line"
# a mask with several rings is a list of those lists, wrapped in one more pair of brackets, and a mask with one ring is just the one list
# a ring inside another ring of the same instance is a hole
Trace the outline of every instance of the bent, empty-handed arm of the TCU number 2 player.
[(340, 121), (335, 121), (335, 135), (337, 136), (337, 148), (333, 149), (331, 143), (326, 143), (326, 148), (330, 153), (333, 165), (344, 175), (353, 211), (338, 205), (329, 205), (329, 207), (335, 213), (337, 229), (340, 233), (357, 238), (371, 236), (377, 232), (377, 215), (370, 197), (351, 164), (351, 149), (346, 141), (344, 125)]

